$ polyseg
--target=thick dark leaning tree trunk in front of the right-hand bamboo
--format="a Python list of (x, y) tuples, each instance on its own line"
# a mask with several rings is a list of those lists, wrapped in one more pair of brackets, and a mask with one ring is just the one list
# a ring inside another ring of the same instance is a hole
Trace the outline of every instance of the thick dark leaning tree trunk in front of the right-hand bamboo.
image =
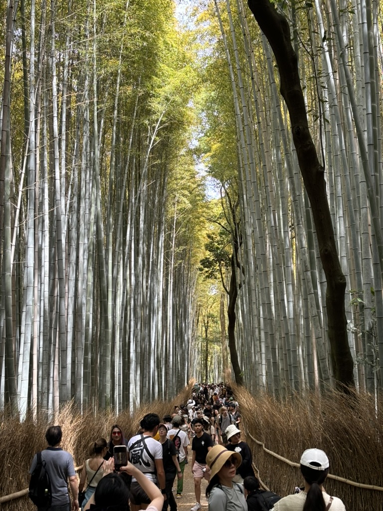
[(326, 275), (328, 338), (334, 376), (340, 386), (354, 385), (353, 360), (347, 339), (345, 313), (346, 278), (339, 262), (326, 195), (324, 168), (308, 129), (306, 108), (298, 72), (298, 59), (291, 44), (290, 27), (269, 0), (248, 0), (254, 17), (265, 33), (277, 61), (280, 92), (289, 110), (299, 167), (310, 200), (320, 257)]

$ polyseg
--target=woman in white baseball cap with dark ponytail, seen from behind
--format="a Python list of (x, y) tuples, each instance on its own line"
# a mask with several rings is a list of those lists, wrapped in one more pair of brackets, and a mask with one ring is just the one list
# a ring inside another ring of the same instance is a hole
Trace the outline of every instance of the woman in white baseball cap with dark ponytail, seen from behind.
[(326, 453), (306, 449), (300, 463), (304, 490), (278, 500), (273, 511), (345, 511), (341, 499), (330, 497), (323, 487), (330, 466)]

